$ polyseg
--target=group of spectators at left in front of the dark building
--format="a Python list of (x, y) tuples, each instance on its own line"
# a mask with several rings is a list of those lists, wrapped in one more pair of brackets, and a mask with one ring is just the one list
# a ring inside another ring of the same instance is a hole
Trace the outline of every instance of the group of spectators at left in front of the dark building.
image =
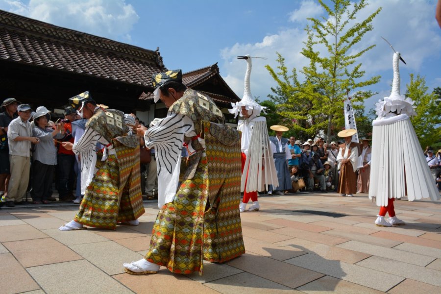
[[(35, 109), (15, 98), (6, 98), (0, 105), (0, 197), (1, 205), (14, 207), (51, 201), (80, 203), (80, 158), (63, 142), (74, 143), (84, 133), (87, 120), (68, 106), (64, 118), (55, 122), (51, 112), (40, 106)], [(105, 105), (100, 105), (106, 108)], [(142, 124), (134, 114), (135, 125)], [(140, 140), (144, 140), (141, 138)], [(140, 145), (144, 142), (140, 141)], [(102, 146), (97, 146), (97, 150)], [(157, 197), (156, 162), (141, 164), (143, 195)], [(150, 167), (149, 167), (150, 166)], [(54, 188), (58, 198), (54, 197)], [(148, 190), (148, 191), (147, 191)]]

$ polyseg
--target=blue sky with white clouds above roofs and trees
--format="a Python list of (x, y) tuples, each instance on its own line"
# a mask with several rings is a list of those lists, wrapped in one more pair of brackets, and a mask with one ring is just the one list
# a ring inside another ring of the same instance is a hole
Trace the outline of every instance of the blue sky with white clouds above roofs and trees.
[[(430, 91), (441, 86), (436, 0), (371, 0), (358, 16), (364, 19), (379, 6), (383, 10), (373, 21), (374, 29), (358, 45), (377, 45), (360, 62), (366, 77), (382, 76), (369, 88), (379, 94), (365, 101), (366, 111), (391, 91), (392, 50), (380, 36), (407, 62), (400, 64), (402, 93), (409, 73), (425, 76)], [(169, 69), (188, 72), (218, 62), (222, 77), (239, 97), (246, 65), (236, 56), (266, 57), (253, 59), (251, 93), (260, 99), (275, 86), (265, 65), (277, 66), (276, 51), (289, 69), (306, 65), (308, 60), (299, 53), (306, 17), (324, 15), (312, 0), (0, 0), (0, 9), (145, 49), (159, 47)]]

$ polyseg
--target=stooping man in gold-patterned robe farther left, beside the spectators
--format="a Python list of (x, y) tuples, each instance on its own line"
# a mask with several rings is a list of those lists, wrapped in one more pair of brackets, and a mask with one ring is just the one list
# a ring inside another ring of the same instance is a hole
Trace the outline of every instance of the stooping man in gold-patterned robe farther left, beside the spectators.
[[(129, 128), (123, 122), (123, 112), (103, 110), (88, 91), (69, 99), (73, 108), (88, 119), (84, 134), (72, 144), (63, 147), (80, 155), (81, 201), (73, 221), (60, 231), (78, 230), (83, 225), (115, 229), (117, 223), (139, 224), (144, 214), (140, 185), (139, 139), (127, 135)], [(97, 160), (96, 146), (104, 147)]]

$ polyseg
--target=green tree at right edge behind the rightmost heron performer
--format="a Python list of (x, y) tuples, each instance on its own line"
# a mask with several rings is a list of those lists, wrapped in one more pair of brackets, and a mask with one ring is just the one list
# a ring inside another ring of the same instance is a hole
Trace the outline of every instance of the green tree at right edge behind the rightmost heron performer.
[(441, 140), (441, 88), (437, 87), (428, 93), (425, 77), (410, 74), (410, 82), (406, 85), (406, 97), (415, 101), (417, 115), (411, 118), (419, 144), (424, 149), (426, 146), (439, 146)]

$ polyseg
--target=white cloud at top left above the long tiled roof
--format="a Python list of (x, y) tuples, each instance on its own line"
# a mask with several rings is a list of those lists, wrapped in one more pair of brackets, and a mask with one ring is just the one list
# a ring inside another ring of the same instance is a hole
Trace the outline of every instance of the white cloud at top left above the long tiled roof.
[(125, 0), (3, 0), (2, 9), (53, 25), (106, 37), (130, 40), (129, 32), (139, 19)]

